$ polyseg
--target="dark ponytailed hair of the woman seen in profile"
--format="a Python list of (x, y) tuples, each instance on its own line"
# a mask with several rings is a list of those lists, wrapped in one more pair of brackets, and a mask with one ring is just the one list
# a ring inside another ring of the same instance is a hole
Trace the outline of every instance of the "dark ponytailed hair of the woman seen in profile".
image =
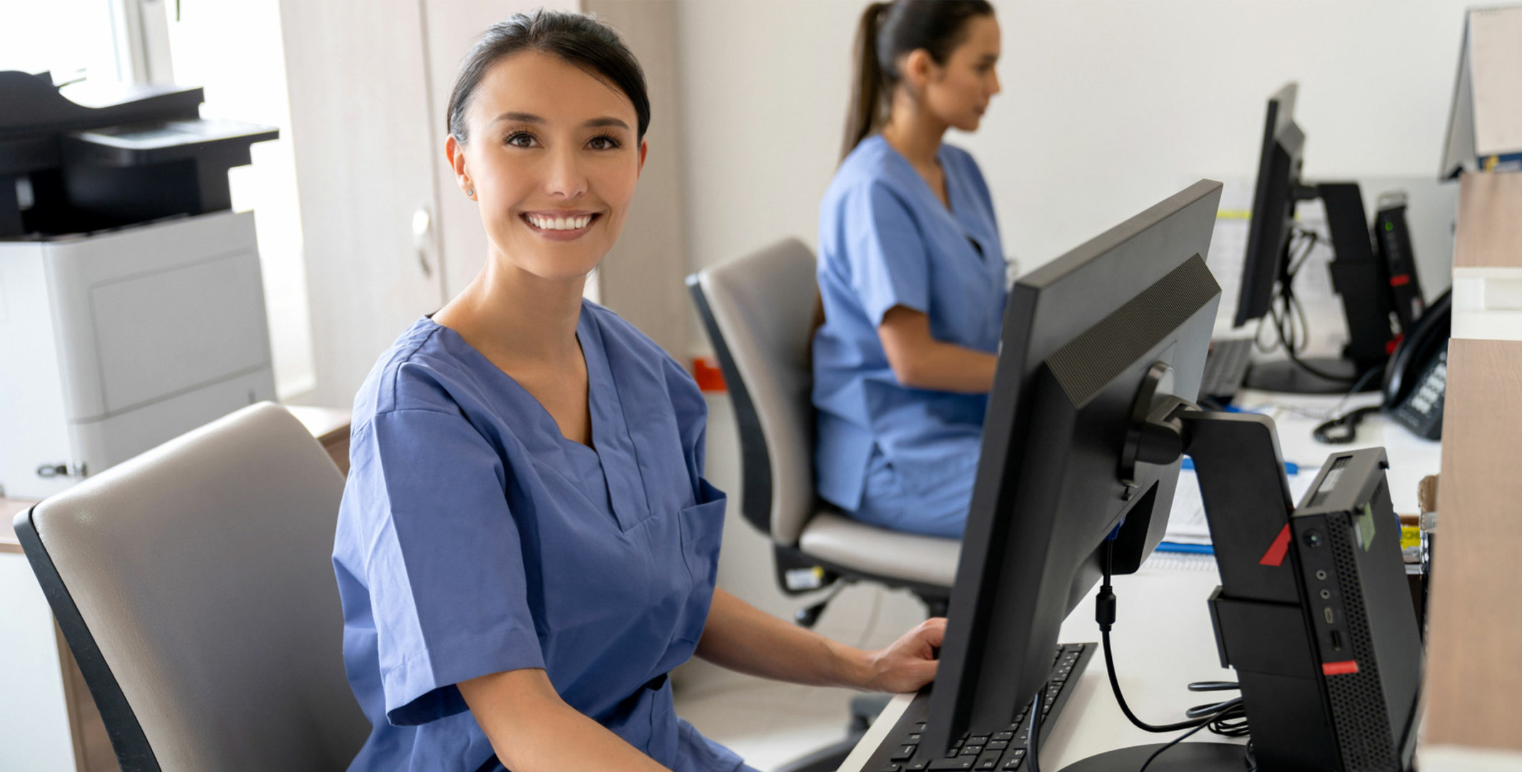
[(889, 99), (901, 79), (900, 56), (925, 49), (931, 61), (945, 64), (966, 38), (968, 20), (991, 15), (994, 6), (988, 0), (893, 0), (866, 6), (857, 27), (857, 72), (840, 155), (851, 155), (887, 119)]

